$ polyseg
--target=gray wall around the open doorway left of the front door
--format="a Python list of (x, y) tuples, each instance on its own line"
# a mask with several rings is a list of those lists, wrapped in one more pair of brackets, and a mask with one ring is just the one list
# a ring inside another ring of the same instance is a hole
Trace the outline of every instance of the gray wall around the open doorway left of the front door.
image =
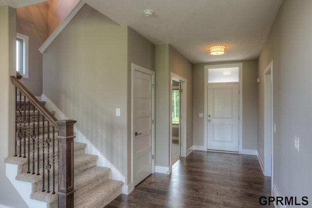
[(187, 79), (187, 149), (193, 145), (192, 63), (170, 44), (155, 46), (156, 166), (170, 166), (170, 72)]

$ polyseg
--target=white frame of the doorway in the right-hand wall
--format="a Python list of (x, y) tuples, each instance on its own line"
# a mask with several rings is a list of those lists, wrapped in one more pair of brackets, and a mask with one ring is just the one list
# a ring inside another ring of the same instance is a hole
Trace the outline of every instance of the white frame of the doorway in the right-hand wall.
[(264, 70), (264, 175), (272, 176), (273, 190), (273, 60)]

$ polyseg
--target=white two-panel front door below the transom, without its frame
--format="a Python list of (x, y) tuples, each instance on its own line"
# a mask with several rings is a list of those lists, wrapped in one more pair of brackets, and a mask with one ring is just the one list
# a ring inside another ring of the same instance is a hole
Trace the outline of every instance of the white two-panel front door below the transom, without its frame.
[(208, 147), (239, 151), (239, 84), (208, 84)]

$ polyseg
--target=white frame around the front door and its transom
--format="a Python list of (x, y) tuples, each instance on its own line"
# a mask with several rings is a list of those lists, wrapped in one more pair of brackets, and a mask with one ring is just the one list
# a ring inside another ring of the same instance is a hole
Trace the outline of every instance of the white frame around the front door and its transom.
[[(236, 82), (239, 84), (239, 153), (241, 154), (250, 154), (248, 150), (243, 149), (243, 63), (234, 63), (234, 64), (218, 64), (218, 65), (206, 65), (204, 67), (204, 146), (202, 150), (207, 150), (208, 148), (208, 69), (210, 68), (228, 68), (228, 67), (238, 67), (239, 71), (239, 81)], [(224, 83), (231, 84), (231, 83)], [(232, 83), (233, 84), (233, 83)]]

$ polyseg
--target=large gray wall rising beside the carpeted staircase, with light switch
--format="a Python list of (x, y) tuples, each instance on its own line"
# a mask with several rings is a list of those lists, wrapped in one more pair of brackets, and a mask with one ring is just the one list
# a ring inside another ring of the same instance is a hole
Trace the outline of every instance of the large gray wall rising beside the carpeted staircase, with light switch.
[(84, 5), (43, 55), (43, 94), (77, 121), (75, 126), (126, 183), (127, 31), (127, 26)]

